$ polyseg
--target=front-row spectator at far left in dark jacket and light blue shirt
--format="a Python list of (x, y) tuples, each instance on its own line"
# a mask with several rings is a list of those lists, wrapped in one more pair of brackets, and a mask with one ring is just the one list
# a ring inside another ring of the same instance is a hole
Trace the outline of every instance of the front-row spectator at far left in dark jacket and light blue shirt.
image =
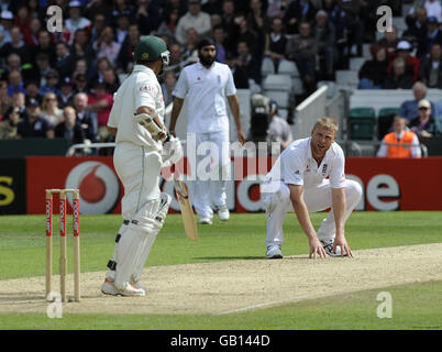
[(26, 138), (54, 138), (54, 128), (48, 120), (40, 116), (38, 101), (30, 100), (26, 105), (24, 118), (16, 127), (16, 135)]

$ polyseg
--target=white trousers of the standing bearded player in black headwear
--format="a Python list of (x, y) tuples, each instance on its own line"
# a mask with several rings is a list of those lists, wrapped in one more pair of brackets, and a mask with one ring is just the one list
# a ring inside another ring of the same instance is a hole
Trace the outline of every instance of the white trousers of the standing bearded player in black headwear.
[(213, 217), (213, 207), (225, 205), (230, 174), (229, 131), (196, 133), (197, 177), (192, 183), (192, 204), (200, 217)]

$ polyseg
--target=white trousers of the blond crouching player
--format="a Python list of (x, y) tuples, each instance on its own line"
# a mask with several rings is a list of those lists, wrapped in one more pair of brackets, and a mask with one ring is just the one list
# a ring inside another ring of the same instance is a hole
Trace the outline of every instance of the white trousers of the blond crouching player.
[[(361, 200), (362, 188), (358, 183), (345, 180), (346, 212), (345, 220), (350, 217), (353, 209)], [(263, 201), (267, 207), (267, 238), (266, 245), (283, 244), (284, 233), (283, 223), (288, 211), (294, 211), (290, 200), (290, 188), (279, 183), (277, 191), (273, 194), (263, 194)], [(334, 213), (332, 208), (332, 195), (330, 182), (324, 179), (322, 184), (314, 185), (303, 189), (303, 201), (309, 212), (324, 211), (331, 208), (328, 217), (322, 220), (321, 227), (317, 231), (318, 239), (331, 240), (336, 235)]]

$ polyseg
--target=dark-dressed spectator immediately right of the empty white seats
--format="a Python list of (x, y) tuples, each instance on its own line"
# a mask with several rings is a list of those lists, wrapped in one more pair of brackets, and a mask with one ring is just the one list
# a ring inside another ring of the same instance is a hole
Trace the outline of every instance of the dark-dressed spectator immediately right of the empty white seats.
[(310, 92), (314, 89), (314, 70), (318, 54), (318, 43), (311, 36), (310, 23), (299, 23), (299, 36), (287, 41), (286, 57), (296, 63), (301, 76), (305, 89)]

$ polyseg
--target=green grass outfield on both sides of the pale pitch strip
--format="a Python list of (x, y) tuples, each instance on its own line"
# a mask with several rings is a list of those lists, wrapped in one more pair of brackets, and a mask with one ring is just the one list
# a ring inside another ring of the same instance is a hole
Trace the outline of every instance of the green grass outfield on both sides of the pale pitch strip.
[[(313, 224), (318, 227), (323, 217), (312, 215)], [(55, 217), (55, 233), (57, 220)], [(106, 270), (120, 222), (120, 216), (81, 216), (81, 272)], [(347, 221), (346, 235), (353, 250), (362, 250), (441, 243), (441, 229), (442, 212), (355, 212)], [(191, 242), (184, 235), (180, 216), (169, 216), (147, 266), (262, 258), (265, 233), (263, 213), (232, 215), (229, 222), (216, 219), (212, 227), (200, 227), (199, 241)], [(295, 215), (287, 217), (285, 234), (285, 255), (307, 255), (308, 242)], [(57, 242), (56, 235), (54, 250)], [(44, 262), (44, 216), (0, 217), (0, 279), (42, 276)], [(66, 314), (63, 319), (49, 319), (45, 315), (0, 315), (0, 329), (442, 329), (442, 282), (389, 287), (395, 297), (393, 319), (376, 316), (379, 292), (226, 316)]]

